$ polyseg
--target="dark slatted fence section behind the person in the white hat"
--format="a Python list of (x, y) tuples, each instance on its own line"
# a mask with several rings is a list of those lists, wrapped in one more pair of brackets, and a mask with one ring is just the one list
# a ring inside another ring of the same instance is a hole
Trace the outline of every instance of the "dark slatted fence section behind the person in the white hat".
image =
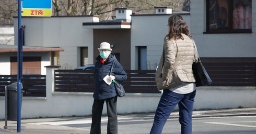
[[(128, 70), (127, 80), (121, 82), (125, 92), (154, 93), (156, 90), (154, 70)], [(55, 91), (93, 92), (94, 71), (90, 70), (55, 70)]]

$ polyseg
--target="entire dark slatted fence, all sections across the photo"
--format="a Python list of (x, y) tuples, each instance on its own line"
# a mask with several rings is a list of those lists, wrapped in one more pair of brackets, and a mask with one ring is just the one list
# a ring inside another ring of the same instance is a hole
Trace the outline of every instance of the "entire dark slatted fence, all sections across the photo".
[[(213, 83), (210, 86), (256, 86), (256, 63), (203, 63)], [(126, 92), (158, 93), (155, 70), (126, 70), (121, 82)], [(45, 75), (23, 75), (24, 96), (46, 97)], [(94, 71), (55, 70), (55, 91), (93, 92)], [(5, 86), (17, 82), (17, 75), (0, 75), (0, 96)]]

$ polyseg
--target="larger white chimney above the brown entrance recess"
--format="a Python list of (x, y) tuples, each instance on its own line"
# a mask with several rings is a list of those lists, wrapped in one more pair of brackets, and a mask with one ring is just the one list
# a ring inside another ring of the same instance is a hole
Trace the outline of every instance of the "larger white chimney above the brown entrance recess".
[(132, 9), (128, 8), (115, 8), (115, 20), (131, 22)]

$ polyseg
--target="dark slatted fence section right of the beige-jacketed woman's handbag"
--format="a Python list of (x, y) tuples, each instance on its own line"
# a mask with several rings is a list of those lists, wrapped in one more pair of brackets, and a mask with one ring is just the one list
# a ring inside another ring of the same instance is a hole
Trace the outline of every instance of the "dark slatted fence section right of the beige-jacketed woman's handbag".
[(256, 86), (256, 63), (203, 63), (210, 86)]

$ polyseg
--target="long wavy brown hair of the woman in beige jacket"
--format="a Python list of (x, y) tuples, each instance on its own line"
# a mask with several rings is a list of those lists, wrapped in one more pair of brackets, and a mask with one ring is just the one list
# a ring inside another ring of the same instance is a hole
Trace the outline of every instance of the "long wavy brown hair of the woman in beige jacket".
[(182, 33), (192, 38), (189, 32), (189, 26), (180, 15), (172, 15), (168, 19), (169, 33), (166, 35), (168, 39), (184, 39)]

